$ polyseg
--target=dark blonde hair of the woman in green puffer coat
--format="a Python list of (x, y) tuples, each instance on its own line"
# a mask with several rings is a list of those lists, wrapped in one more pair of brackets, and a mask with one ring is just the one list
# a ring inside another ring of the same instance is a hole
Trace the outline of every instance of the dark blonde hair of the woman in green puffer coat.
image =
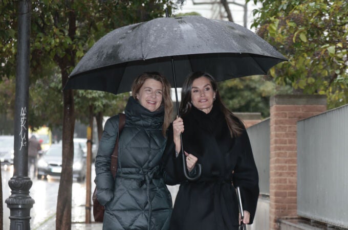
[(138, 100), (136, 98), (136, 95), (139, 93), (140, 88), (143, 86), (144, 82), (147, 79), (154, 79), (156, 81), (159, 81), (162, 83), (162, 103), (161, 106), (164, 106), (164, 121), (162, 126), (162, 133), (165, 136), (167, 132), (167, 128), (169, 127), (172, 111), (173, 111), (173, 103), (171, 101), (171, 95), (170, 95), (170, 84), (168, 80), (163, 77), (158, 72), (145, 72), (139, 75), (132, 84), (132, 96), (134, 99)]

